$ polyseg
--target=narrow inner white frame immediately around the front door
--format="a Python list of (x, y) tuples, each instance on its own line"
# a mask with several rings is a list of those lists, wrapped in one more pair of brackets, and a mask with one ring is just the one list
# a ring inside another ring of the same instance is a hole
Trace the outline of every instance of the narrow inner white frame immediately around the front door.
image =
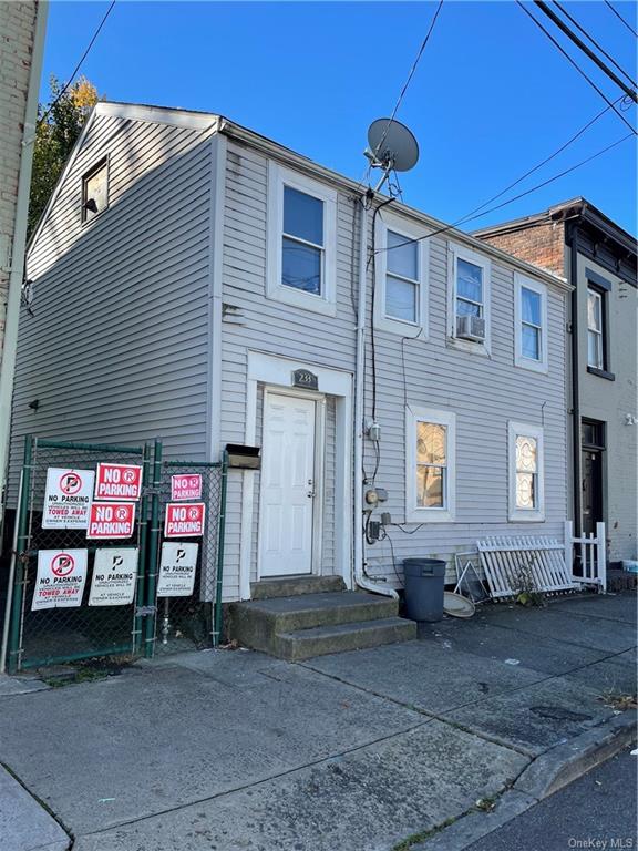
[[(323, 546), (323, 494), (325, 488), (325, 460), (326, 460), (326, 394), (312, 390), (300, 390), (292, 387), (276, 387), (266, 385), (264, 387), (264, 401), (261, 411), (261, 447), (264, 447), (264, 433), (266, 428), (266, 409), (268, 397), (287, 396), (291, 399), (308, 399), (315, 402), (315, 447), (312, 459), (312, 481), (315, 482), (315, 496), (312, 498), (312, 532), (311, 532), (311, 555), (310, 573), (303, 576), (321, 575), (321, 555)], [(264, 488), (261, 488), (261, 475), (259, 476), (259, 505), (257, 515), (257, 582), (261, 577), (261, 552), (264, 544)], [(300, 574), (301, 575), (301, 574)], [(268, 578), (274, 578), (268, 576)]]

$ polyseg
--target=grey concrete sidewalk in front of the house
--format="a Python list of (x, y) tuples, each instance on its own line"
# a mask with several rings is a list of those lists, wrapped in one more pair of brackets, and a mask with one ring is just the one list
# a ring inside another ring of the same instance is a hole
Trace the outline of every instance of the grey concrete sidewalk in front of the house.
[(635, 693), (635, 594), (487, 606), (306, 663), (210, 650), (0, 690), (0, 762), (73, 851), (452, 851), (627, 741)]

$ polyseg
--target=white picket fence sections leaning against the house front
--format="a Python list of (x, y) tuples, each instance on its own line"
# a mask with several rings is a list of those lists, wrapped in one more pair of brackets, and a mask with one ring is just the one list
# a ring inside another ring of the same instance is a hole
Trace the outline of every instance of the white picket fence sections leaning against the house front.
[[(531, 588), (547, 594), (583, 585), (595, 585), (603, 593), (607, 589), (604, 523), (598, 523), (596, 536), (575, 539), (573, 524), (566, 522), (563, 543), (550, 537), (498, 536), (477, 541), (476, 548), (493, 599), (514, 597)], [(575, 552), (580, 558), (580, 576), (573, 571)]]

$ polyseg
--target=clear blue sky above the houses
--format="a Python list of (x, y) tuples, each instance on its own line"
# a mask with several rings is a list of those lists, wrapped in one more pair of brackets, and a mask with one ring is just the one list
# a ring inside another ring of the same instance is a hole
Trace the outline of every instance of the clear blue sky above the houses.
[[(614, 2), (636, 29), (636, 6)], [(597, 0), (564, 4), (636, 78), (636, 39), (610, 10)], [(51, 2), (41, 100), (48, 98), (51, 73), (61, 80), (71, 73), (107, 6)], [(82, 73), (109, 100), (219, 112), (359, 180), (368, 125), (391, 113), (435, 7), (119, 0)], [(600, 71), (579, 61), (608, 98), (619, 95)], [(412, 129), (421, 150), (419, 164), (401, 180), (404, 201), (455, 221), (604, 107), (516, 3), (445, 0), (397, 116)], [(625, 113), (631, 123), (636, 109)], [(609, 111), (512, 194), (627, 133)], [(584, 195), (636, 233), (636, 145), (628, 140), (467, 227)]]

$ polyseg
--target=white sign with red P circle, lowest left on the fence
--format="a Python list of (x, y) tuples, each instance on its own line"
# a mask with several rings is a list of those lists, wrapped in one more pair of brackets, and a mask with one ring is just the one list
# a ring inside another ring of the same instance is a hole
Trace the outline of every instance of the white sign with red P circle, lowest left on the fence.
[(86, 550), (40, 550), (31, 612), (82, 605)]

